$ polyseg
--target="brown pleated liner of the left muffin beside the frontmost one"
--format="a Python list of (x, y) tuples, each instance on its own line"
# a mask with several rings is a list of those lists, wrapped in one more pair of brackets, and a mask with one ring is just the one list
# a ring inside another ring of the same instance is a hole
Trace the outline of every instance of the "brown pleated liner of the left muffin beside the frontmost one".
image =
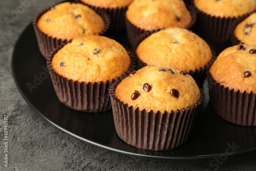
[(134, 70), (136, 59), (133, 53), (128, 52), (131, 57), (130, 68), (117, 79), (108, 80), (106, 82), (101, 81), (100, 83), (79, 83), (78, 81), (74, 82), (72, 79), (68, 80), (68, 78), (64, 78), (62, 75), (59, 75), (51, 66), (53, 56), (63, 46), (64, 45), (54, 49), (47, 59), (47, 67), (59, 101), (76, 111), (103, 112), (110, 110), (111, 101), (109, 89), (111, 83), (117, 80), (122, 80)]

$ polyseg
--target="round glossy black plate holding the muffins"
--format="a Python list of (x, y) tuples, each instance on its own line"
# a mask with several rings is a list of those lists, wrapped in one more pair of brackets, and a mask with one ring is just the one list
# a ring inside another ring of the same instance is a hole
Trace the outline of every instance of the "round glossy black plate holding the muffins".
[[(109, 37), (128, 45), (125, 32)], [(217, 52), (226, 46), (215, 45)], [(111, 151), (160, 159), (200, 159), (256, 149), (256, 127), (232, 124), (216, 115), (209, 103), (207, 82), (204, 84), (205, 99), (195, 127), (184, 145), (169, 151), (146, 151), (126, 144), (116, 134), (112, 111), (96, 114), (77, 112), (59, 102), (46, 68), (46, 60), (37, 47), (32, 24), (16, 42), (12, 72), (19, 92), (47, 121), (82, 141)], [(235, 147), (231, 148), (232, 145)]]

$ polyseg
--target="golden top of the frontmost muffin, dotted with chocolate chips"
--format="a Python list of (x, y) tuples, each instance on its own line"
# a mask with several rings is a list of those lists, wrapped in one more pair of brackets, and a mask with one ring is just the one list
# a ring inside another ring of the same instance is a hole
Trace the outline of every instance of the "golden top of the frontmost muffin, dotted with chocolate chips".
[(195, 80), (172, 66), (146, 66), (124, 78), (115, 96), (140, 111), (172, 112), (186, 109), (199, 101)]

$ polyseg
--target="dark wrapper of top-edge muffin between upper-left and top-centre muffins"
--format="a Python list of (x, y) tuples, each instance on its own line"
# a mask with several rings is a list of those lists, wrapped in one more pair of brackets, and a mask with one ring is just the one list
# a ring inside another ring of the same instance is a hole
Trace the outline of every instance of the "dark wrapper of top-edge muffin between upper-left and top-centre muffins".
[(106, 12), (109, 14), (111, 18), (111, 25), (110, 25), (110, 31), (121, 31), (125, 29), (125, 23), (124, 23), (124, 17), (125, 12), (128, 8), (128, 6), (125, 7), (119, 7), (119, 8), (102, 8), (102, 7), (96, 7), (90, 4), (86, 4), (82, 2), (81, 0), (76, 0), (77, 3), (84, 4), (90, 8), (92, 8), (94, 11), (96, 11), (98, 14), (102, 12)]

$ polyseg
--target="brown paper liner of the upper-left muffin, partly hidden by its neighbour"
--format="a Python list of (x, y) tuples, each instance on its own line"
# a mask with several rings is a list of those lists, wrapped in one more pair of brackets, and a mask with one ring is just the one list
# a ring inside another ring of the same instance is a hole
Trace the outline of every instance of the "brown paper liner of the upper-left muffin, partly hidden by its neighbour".
[[(49, 53), (51, 51), (53, 51), (55, 48), (58, 48), (58, 46), (60, 46), (60, 45), (67, 44), (70, 41), (67, 39), (62, 40), (62, 39), (58, 39), (56, 37), (48, 36), (47, 34), (41, 32), (40, 29), (37, 27), (37, 22), (38, 22), (39, 18), (44, 13), (51, 10), (51, 8), (53, 8), (53, 7), (54, 6), (48, 7), (46, 9), (40, 11), (39, 13), (37, 13), (32, 22), (34, 30), (35, 30), (39, 50), (40, 50), (42, 56), (44, 56), (46, 59), (49, 56)], [(102, 30), (101, 33), (99, 33), (99, 35), (105, 35), (105, 33), (109, 30), (109, 27), (110, 27), (110, 17), (106, 13), (101, 13), (100, 16), (103, 18), (103, 20), (105, 22), (105, 28)]]

